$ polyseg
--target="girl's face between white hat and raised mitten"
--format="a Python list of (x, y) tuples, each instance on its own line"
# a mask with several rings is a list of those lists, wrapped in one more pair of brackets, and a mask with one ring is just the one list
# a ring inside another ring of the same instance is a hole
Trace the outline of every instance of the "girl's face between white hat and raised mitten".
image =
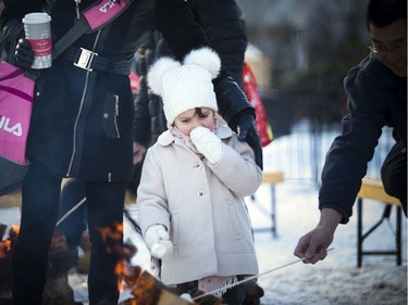
[(214, 111), (208, 107), (187, 110), (175, 118), (174, 125), (186, 136), (189, 136), (189, 132), (199, 126), (212, 131), (214, 129)]

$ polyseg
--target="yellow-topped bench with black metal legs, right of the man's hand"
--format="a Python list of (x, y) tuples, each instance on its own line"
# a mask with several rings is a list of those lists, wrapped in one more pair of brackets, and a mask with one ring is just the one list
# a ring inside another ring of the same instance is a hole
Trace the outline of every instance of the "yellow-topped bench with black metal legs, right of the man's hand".
[[(374, 200), (385, 204), (381, 219), (373, 225), (367, 232), (362, 231), (362, 203), (363, 200)], [(364, 251), (362, 243), (384, 219), (390, 218), (392, 207), (396, 207), (396, 232), (395, 250), (393, 251)], [(360, 191), (357, 194), (357, 266), (361, 267), (363, 255), (395, 255), (398, 266), (401, 265), (401, 206), (398, 199), (388, 195), (379, 179), (362, 179)]]

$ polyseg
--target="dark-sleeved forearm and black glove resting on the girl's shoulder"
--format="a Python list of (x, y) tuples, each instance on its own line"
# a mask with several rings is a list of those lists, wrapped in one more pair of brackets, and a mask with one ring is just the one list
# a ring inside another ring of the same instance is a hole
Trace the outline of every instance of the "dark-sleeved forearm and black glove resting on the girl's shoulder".
[(255, 123), (255, 109), (231, 76), (221, 74), (214, 79), (214, 90), (220, 114), (239, 136), (239, 140), (245, 140), (252, 148), (255, 161), (263, 169), (262, 147)]

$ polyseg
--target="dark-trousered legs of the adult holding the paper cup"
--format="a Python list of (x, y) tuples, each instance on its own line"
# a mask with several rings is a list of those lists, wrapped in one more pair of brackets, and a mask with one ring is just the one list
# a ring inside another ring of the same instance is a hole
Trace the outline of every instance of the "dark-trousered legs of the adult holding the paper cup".
[[(22, 218), (12, 263), (15, 305), (41, 305), (48, 251), (54, 231), (61, 177), (33, 162), (23, 181)], [(89, 302), (118, 304), (115, 267), (123, 260), (123, 204), (125, 182), (85, 182), (91, 240), (88, 276)]]

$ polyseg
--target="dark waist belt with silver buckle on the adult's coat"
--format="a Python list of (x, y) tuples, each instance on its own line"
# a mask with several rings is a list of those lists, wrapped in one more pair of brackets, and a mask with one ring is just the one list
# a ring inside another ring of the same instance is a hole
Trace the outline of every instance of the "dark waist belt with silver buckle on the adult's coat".
[(73, 62), (75, 66), (86, 71), (107, 72), (120, 75), (128, 75), (131, 73), (131, 60), (109, 60), (84, 48), (70, 47), (62, 53), (62, 56)]

